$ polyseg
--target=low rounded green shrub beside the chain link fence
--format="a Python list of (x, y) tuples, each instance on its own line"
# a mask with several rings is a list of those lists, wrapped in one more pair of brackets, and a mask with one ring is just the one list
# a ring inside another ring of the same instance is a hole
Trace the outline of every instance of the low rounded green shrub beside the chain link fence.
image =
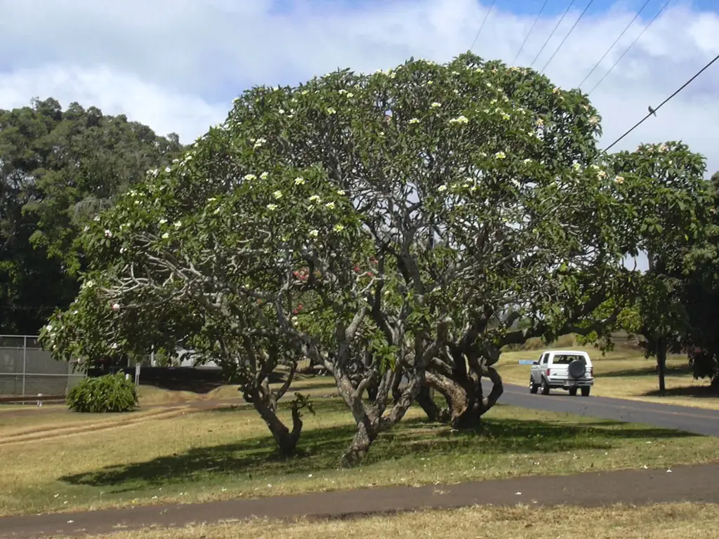
[(137, 407), (137, 389), (124, 373), (86, 378), (68, 393), (67, 405), (73, 412), (132, 412)]

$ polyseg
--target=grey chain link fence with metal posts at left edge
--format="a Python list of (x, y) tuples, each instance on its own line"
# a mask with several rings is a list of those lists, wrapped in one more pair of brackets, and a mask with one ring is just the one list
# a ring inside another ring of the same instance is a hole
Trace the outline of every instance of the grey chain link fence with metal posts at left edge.
[(0, 395), (65, 395), (85, 374), (55, 361), (37, 336), (0, 335)]

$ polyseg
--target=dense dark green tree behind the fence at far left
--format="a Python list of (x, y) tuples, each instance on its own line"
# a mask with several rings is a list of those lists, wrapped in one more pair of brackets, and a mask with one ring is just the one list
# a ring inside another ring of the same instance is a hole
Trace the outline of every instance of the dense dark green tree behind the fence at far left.
[(78, 231), (180, 150), (124, 115), (48, 98), (0, 110), (0, 331), (35, 334), (78, 290)]

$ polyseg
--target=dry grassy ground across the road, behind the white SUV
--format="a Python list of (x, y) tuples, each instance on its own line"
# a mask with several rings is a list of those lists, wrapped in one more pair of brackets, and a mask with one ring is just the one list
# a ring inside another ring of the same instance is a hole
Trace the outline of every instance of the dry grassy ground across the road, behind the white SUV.
[[(594, 364), (595, 385), (592, 395), (621, 399), (663, 402), (680, 406), (695, 406), (719, 410), (719, 395), (712, 391), (709, 382), (695, 380), (685, 356), (667, 359), (667, 392), (660, 396), (656, 376), (656, 359), (645, 359), (641, 351), (628, 346), (617, 346), (614, 351), (602, 353), (593, 347), (561, 346), (562, 349), (585, 350)], [(542, 350), (503, 352), (498, 371), (504, 382), (525, 386), (529, 382), (530, 365), (519, 365), (519, 359), (539, 359)], [(559, 390), (557, 390), (559, 391)]]

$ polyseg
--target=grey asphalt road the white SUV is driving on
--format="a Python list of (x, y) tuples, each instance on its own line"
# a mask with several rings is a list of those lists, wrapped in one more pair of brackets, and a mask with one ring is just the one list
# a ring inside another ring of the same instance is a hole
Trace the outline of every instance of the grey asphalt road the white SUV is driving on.
[[(485, 391), (489, 392), (490, 389), (491, 384), (487, 384)], [(573, 413), (626, 423), (644, 423), (705, 436), (719, 436), (719, 410), (610, 397), (572, 397), (564, 390), (552, 390), (549, 395), (531, 395), (528, 387), (512, 384), (505, 384), (504, 393), (498, 402), (534, 410)]]

